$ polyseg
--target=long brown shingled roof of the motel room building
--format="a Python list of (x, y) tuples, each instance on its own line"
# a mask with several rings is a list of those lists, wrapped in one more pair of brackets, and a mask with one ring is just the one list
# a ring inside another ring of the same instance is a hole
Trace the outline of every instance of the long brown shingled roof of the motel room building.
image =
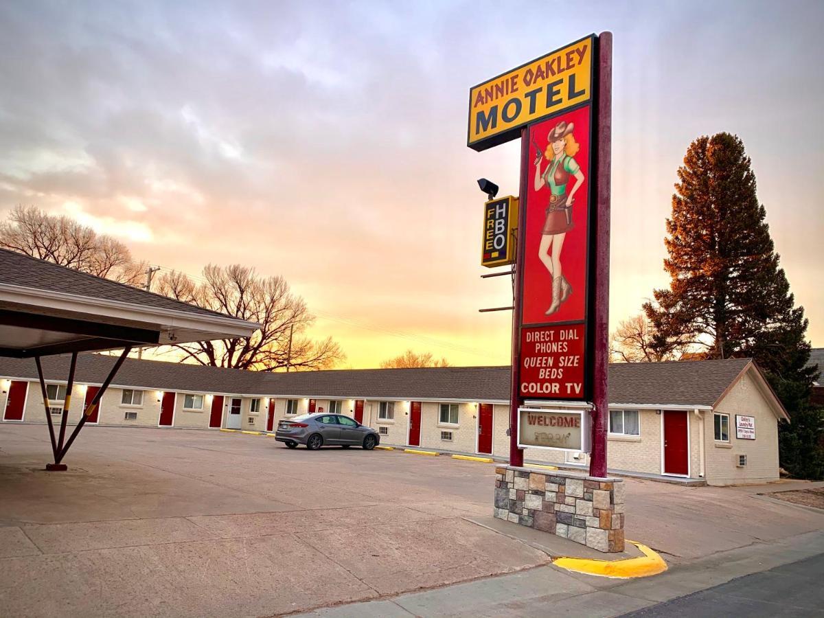
[[(77, 381), (103, 382), (115, 359), (82, 354)], [(749, 358), (672, 363), (616, 363), (609, 369), (612, 405), (712, 406), (749, 366)], [(46, 379), (64, 381), (68, 357), (44, 358)], [(0, 358), (0, 376), (36, 379), (35, 363)], [(129, 358), (115, 386), (236, 395), (500, 401), (509, 399), (508, 367), (353, 369), (256, 373)]]

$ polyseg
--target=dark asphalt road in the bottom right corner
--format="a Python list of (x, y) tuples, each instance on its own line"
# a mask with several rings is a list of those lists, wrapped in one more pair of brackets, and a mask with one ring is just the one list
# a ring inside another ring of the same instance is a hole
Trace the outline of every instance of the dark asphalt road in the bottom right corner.
[(824, 616), (824, 554), (624, 616)]

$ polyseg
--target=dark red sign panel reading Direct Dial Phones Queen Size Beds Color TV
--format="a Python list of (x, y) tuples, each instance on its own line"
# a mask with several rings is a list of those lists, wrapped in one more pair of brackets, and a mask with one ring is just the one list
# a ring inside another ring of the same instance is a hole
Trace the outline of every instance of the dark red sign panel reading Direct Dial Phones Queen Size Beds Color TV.
[(527, 399), (584, 398), (584, 325), (521, 329), (521, 382)]

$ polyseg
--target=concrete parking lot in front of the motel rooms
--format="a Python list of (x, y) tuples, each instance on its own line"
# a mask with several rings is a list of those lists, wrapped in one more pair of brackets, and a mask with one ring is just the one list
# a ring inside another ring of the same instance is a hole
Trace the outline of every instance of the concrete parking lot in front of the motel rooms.
[[(489, 464), (99, 427), (68, 472), (41, 471), (48, 456), (43, 426), (0, 426), (8, 616), (274, 616), (550, 561), (482, 525)], [(757, 495), (775, 489), (628, 480), (626, 533), (688, 564), (822, 528), (821, 513)]]

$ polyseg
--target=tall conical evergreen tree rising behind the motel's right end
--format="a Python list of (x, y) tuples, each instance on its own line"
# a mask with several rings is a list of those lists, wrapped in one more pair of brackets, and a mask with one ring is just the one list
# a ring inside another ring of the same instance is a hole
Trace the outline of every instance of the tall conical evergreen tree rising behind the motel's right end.
[(665, 239), (670, 287), (644, 304), (655, 345), (689, 340), (704, 358), (755, 358), (784, 406), (799, 410), (814, 372), (805, 368), (808, 322), (779, 267), (744, 144), (729, 133), (696, 139), (678, 178)]

